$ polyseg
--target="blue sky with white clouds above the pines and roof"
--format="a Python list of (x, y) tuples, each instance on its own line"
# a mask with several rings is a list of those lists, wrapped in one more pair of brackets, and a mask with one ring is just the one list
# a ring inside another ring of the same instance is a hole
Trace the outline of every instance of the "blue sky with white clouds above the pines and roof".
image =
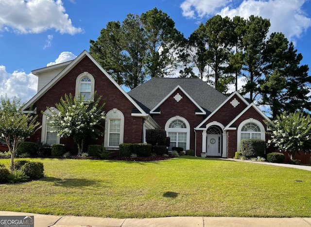
[(28, 101), (37, 87), (32, 70), (73, 59), (107, 22), (154, 7), (186, 37), (217, 14), (269, 18), (270, 32), (285, 33), (302, 64), (311, 63), (310, 0), (0, 0), (0, 95)]

